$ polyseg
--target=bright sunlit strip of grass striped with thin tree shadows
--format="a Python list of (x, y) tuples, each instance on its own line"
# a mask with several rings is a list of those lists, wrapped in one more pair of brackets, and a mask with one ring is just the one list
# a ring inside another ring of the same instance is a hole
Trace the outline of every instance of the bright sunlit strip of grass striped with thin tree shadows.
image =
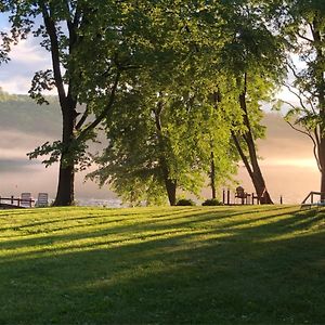
[[(288, 208), (285, 208), (288, 210)], [(278, 209), (276, 209), (278, 210)], [(282, 208), (283, 210), (283, 208)], [(264, 213), (265, 211), (269, 211), (269, 214), (265, 217), (258, 218), (258, 213)], [(178, 216), (178, 213), (184, 213), (182, 216)], [(141, 213), (141, 212), (139, 212)], [(139, 214), (136, 213), (136, 214)], [(64, 243), (64, 242), (75, 242), (80, 239), (88, 239), (88, 238), (96, 238), (96, 237), (105, 237), (105, 236), (113, 236), (115, 234), (122, 234), (122, 233), (143, 233), (148, 231), (154, 231), (155, 233), (160, 230), (165, 230), (166, 227), (177, 227), (179, 232), (182, 230), (186, 233), (190, 231), (195, 230), (195, 227), (202, 227), (203, 223), (211, 222), (211, 224), (208, 224), (208, 227), (211, 227), (212, 231), (217, 230), (220, 232), (224, 231), (224, 229), (231, 229), (235, 225), (240, 224), (252, 224), (255, 222), (261, 221), (263, 219), (268, 218), (275, 218), (278, 217), (278, 211), (275, 211), (273, 209), (259, 209), (258, 211), (256, 209), (249, 209), (248, 211), (245, 211), (243, 213), (234, 210), (234, 209), (221, 209), (216, 210), (212, 209), (211, 211), (206, 211), (204, 209), (202, 210), (191, 210), (191, 209), (182, 209), (178, 213), (176, 213), (174, 218), (170, 218), (170, 214), (172, 212), (168, 213), (161, 213), (159, 219), (153, 219), (150, 216), (147, 218), (142, 217), (140, 220), (134, 220), (133, 217), (131, 218), (123, 218), (123, 217), (130, 217), (129, 214), (117, 214), (118, 217), (122, 217), (120, 219), (113, 219), (113, 216), (105, 216), (105, 214), (99, 214), (99, 216), (89, 216), (82, 217), (82, 218), (70, 218), (70, 219), (63, 219), (61, 220), (61, 223), (65, 221), (83, 221), (80, 222), (80, 224), (72, 224), (72, 225), (64, 225), (64, 226), (52, 226), (52, 227), (42, 227), (43, 225), (48, 225), (48, 223), (44, 222), (30, 222), (28, 224), (15, 224), (11, 230), (17, 230), (16, 235), (9, 235), (5, 237), (5, 235), (2, 235), (2, 238), (6, 238), (4, 243), (2, 243), (1, 248), (2, 249), (16, 249), (25, 246), (39, 246), (39, 245), (49, 245), (52, 243)], [(190, 213), (190, 214), (187, 214)], [(253, 214), (253, 219), (249, 220), (242, 220), (243, 214)], [(277, 214), (276, 214), (277, 213)], [(134, 216), (134, 213), (132, 213)], [(286, 214), (286, 212), (284, 212)], [(114, 217), (117, 217), (114, 216)], [(240, 217), (240, 220), (237, 220), (236, 217)], [(227, 222), (222, 223), (216, 223), (217, 221), (221, 221), (222, 219), (229, 219)], [(89, 224), (89, 220), (93, 221), (93, 225), (100, 226), (100, 229), (87, 229), (86, 231), (78, 231), (78, 229), (87, 227), (92, 224)], [(134, 221), (131, 223), (128, 223), (128, 221)], [(176, 221), (174, 223), (170, 223), (170, 221)], [(127, 224), (119, 224), (119, 222), (127, 222)], [(58, 220), (55, 220), (54, 223), (58, 223)], [(53, 225), (52, 224), (52, 225)], [(40, 226), (40, 227), (38, 227)], [(30, 229), (30, 230), (28, 230)], [(24, 230), (24, 239), (16, 239), (22, 237), (21, 230)], [(68, 230), (75, 230), (77, 232), (69, 232), (65, 233), (64, 231)], [(207, 231), (207, 230), (206, 230)], [(63, 232), (63, 233), (62, 233)], [(49, 250), (49, 248), (46, 248), (46, 250)]]

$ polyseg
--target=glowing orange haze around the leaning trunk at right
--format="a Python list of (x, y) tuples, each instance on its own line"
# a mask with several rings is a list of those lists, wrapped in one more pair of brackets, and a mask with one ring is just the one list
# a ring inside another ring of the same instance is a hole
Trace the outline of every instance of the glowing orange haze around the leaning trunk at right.
[[(266, 186), (275, 203), (283, 196), (284, 203), (301, 203), (311, 191), (320, 191), (321, 174), (312, 152), (312, 142), (292, 130), (275, 114), (264, 119), (266, 139), (259, 141), (260, 166)], [(252, 191), (245, 168), (239, 178), (244, 187)], [(250, 192), (250, 191), (248, 191)]]

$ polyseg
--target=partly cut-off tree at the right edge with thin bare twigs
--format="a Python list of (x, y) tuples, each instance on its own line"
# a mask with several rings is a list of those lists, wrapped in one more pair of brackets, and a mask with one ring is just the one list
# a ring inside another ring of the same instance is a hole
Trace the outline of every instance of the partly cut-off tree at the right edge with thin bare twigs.
[[(298, 66), (288, 57), (292, 82), (287, 89), (296, 102), (289, 106), (289, 125), (309, 136), (321, 172), (321, 193), (325, 199), (325, 3), (324, 1), (275, 1), (273, 15), (278, 23), (289, 53), (299, 57)], [(300, 67), (299, 67), (300, 65)]]

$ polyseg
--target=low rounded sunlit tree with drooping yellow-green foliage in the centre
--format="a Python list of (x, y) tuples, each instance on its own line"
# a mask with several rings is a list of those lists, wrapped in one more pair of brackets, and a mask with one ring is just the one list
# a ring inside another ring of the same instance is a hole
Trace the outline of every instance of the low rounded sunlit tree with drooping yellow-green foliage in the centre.
[(230, 129), (209, 96), (194, 92), (193, 84), (188, 91), (170, 83), (158, 95), (153, 84), (142, 84), (146, 91), (133, 89), (133, 101), (115, 110), (106, 129), (109, 146), (96, 158), (100, 169), (90, 177), (110, 184), (125, 200), (157, 204), (168, 197), (173, 206), (177, 190), (199, 194), (211, 150), (214, 172), (232, 169)]

